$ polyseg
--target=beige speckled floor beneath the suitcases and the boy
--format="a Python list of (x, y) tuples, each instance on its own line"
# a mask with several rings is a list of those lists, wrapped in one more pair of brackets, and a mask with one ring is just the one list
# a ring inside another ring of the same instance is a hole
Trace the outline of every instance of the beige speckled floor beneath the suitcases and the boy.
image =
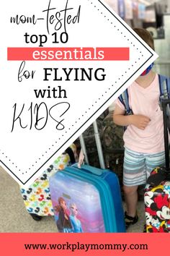
[[(34, 221), (24, 207), (19, 185), (0, 167), (0, 232), (57, 232), (52, 217), (43, 217)], [(139, 221), (128, 229), (128, 232), (143, 232), (144, 205), (138, 202)]]

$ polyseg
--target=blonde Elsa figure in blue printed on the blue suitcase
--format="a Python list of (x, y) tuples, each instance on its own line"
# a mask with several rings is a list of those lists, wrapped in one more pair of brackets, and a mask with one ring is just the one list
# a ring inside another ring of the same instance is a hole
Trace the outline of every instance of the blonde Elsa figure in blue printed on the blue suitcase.
[(77, 218), (78, 210), (75, 203), (70, 204), (70, 210), (71, 210), (71, 224), (73, 226), (73, 233), (82, 233), (83, 229), (81, 226), (81, 221)]

